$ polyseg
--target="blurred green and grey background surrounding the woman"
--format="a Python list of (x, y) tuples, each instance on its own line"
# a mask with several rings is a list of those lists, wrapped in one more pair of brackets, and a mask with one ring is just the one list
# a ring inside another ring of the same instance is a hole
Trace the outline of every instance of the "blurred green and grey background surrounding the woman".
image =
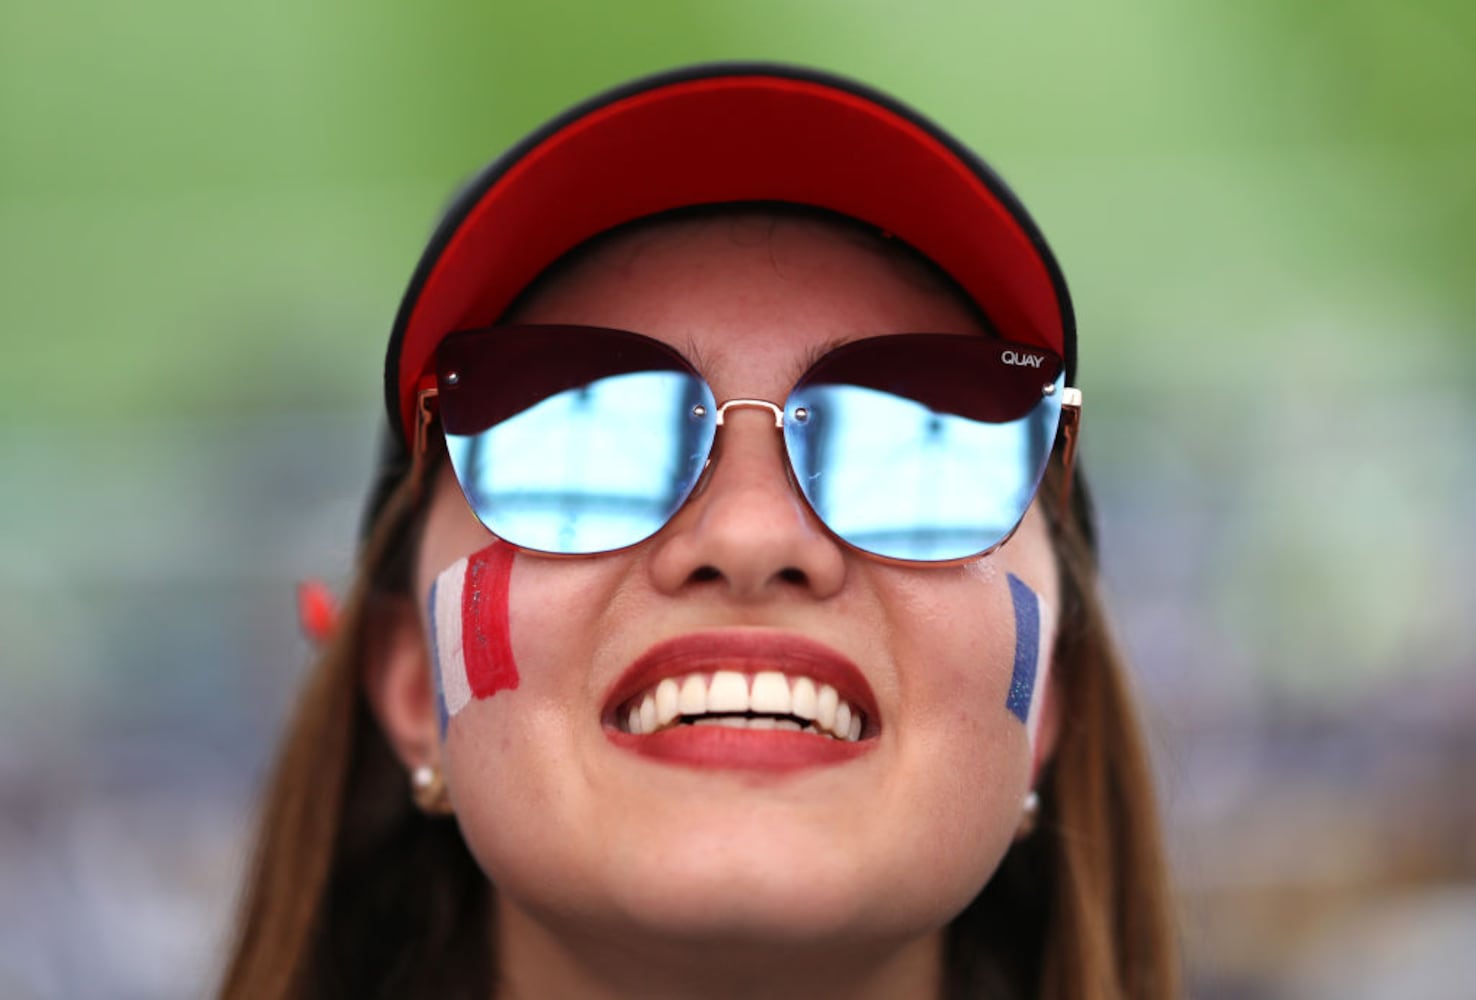
[(431, 220), (717, 58), (896, 93), (1052, 240), (1194, 996), (1473, 996), (1460, 0), (6, 0), (0, 996), (208, 990)]

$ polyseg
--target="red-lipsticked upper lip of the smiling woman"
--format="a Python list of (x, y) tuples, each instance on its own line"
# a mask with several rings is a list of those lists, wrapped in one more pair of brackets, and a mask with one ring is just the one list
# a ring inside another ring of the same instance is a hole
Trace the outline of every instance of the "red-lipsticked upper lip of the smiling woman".
[(871, 684), (846, 655), (806, 636), (753, 628), (688, 633), (651, 646), (611, 684), (602, 717), (613, 724), (620, 705), (666, 677), (719, 670), (750, 676), (776, 670), (810, 677), (861, 708), (871, 720), (868, 729), (874, 730), (881, 720)]

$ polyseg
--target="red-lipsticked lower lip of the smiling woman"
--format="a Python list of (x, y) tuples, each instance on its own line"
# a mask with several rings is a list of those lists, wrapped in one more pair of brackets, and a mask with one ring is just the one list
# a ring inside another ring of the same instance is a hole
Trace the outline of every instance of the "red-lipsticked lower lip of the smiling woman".
[(676, 726), (633, 736), (605, 730), (611, 743), (663, 764), (747, 771), (796, 771), (853, 761), (875, 740), (847, 740), (788, 730)]

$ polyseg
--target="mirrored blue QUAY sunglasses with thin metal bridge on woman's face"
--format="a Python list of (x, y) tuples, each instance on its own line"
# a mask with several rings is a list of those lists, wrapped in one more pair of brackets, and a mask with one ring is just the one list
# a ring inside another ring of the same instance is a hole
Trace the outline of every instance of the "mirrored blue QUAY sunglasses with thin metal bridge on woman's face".
[[(416, 450), (440, 419), (468, 504), (520, 549), (593, 555), (660, 531), (698, 490), (735, 410), (765, 410), (790, 479), (825, 528), (884, 560), (948, 563), (1004, 544), (1080, 391), (1048, 350), (899, 333), (816, 360), (782, 406), (719, 401), (672, 347), (589, 326), (449, 335), (421, 389)], [(1063, 496), (1064, 500), (1064, 496)]]

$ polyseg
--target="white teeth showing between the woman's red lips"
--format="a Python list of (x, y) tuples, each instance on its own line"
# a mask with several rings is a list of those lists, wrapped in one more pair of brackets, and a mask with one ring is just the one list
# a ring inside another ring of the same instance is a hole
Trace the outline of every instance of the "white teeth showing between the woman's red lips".
[[(751, 684), (750, 684), (751, 681)], [(865, 726), (830, 684), (766, 670), (667, 677), (615, 712), (620, 729), (645, 736), (683, 723), (737, 729), (793, 729), (855, 742)], [(700, 717), (708, 718), (700, 718)]]

